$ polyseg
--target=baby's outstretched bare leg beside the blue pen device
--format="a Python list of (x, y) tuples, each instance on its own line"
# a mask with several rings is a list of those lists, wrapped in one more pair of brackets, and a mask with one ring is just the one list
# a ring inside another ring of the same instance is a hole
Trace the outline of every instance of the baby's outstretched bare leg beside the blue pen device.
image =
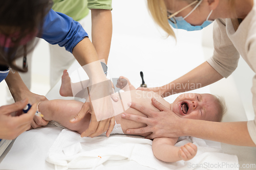
[(70, 123), (69, 120), (81, 110), (83, 103), (74, 100), (51, 100), (41, 102), (39, 111), (45, 120), (54, 120), (70, 130), (81, 134), (90, 124), (91, 114), (87, 114), (80, 122)]

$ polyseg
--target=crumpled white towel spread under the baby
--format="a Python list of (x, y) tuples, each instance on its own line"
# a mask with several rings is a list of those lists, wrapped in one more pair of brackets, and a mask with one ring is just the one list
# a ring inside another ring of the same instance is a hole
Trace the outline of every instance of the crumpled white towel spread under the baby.
[[(217, 165), (238, 164), (236, 155), (223, 154), (219, 142), (195, 137), (182, 137), (177, 146), (193, 142), (198, 146), (197, 155), (189, 161), (166, 163), (158, 160), (152, 152), (152, 140), (136, 136), (81, 138), (76, 132), (63, 129), (48, 152), (46, 161), (56, 170), (69, 168), (93, 168), (107, 160), (133, 160), (154, 169), (192, 169), (199, 166), (206, 169), (223, 169)], [(171, 154), (171, 153), (170, 153)], [(207, 167), (206, 167), (207, 166)], [(209, 167), (208, 167), (209, 166)], [(215, 166), (215, 167), (210, 167)], [(226, 168), (225, 169), (238, 169)]]

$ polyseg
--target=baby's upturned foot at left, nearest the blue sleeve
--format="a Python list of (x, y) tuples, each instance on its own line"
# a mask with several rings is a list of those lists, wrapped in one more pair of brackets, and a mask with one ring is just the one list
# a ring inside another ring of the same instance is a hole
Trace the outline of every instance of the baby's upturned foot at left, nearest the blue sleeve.
[(59, 89), (59, 94), (61, 96), (73, 96), (72, 88), (71, 88), (71, 80), (68, 74), (68, 71), (65, 69), (63, 71), (63, 75), (61, 77), (61, 86)]

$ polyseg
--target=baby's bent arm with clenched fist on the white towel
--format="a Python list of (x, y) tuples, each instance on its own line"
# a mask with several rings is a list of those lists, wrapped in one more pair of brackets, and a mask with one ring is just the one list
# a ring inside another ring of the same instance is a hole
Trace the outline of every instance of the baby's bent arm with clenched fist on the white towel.
[(181, 147), (175, 147), (174, 144), (178, 138), (155, 138), (152, 144), (152, 150), (157, 159), (164, 162), (176, 162), (180, 160), (190, 160), (197, 154), (197, 146), (193, 143), (187, 143)]

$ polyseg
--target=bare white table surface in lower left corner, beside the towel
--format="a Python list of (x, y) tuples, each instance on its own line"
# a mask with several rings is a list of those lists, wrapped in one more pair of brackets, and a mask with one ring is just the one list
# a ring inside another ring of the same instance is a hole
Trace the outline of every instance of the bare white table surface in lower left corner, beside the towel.
[(45, 158), (61, 130), (62, 128), (54, 125), (47, 125), (44, 128), (22, 133), (16, 138), (11, 150), (0, 163), (0, 169), (54, 169), (54, 166), (46, 163)]

